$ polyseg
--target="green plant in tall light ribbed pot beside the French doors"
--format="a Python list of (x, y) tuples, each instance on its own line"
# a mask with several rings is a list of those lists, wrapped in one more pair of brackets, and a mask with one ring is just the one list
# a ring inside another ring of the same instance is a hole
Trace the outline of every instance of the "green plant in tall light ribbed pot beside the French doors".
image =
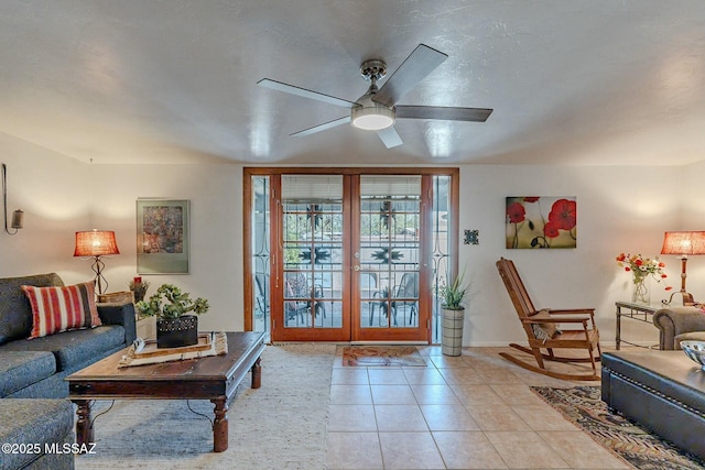
[(441, 286), (441, 308), (443, 309), (443, 320), (441, 330), (443, 339), (441, 351), (446, 356), (460, 356), (463, 351), (463, 324), (465, 321), (465, 297), (467, 285), (463, 282), (465, 272)]

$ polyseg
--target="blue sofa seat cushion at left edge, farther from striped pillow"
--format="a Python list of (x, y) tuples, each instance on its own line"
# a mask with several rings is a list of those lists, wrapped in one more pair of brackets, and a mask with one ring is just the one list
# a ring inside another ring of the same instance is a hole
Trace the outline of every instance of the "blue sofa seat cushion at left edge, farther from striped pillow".
[(6, 351), (0, 348), (0, 397), (30, 386), (56, 372), (54, 354), (46, 351)]

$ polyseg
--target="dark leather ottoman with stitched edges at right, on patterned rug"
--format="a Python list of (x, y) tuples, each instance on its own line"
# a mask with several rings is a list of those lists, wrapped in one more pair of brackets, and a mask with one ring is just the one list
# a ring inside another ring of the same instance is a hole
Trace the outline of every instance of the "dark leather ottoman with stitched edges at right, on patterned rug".
[(603, 401), (705, 459), (705, 371), (682, 351), (603, 353)]

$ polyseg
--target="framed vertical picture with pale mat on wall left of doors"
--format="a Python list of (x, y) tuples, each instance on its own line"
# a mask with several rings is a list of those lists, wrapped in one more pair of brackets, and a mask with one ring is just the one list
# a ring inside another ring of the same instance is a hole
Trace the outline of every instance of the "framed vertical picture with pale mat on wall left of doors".
[(138, 274), (188, 274), (189, 201), (138, 198), (135, 209)]

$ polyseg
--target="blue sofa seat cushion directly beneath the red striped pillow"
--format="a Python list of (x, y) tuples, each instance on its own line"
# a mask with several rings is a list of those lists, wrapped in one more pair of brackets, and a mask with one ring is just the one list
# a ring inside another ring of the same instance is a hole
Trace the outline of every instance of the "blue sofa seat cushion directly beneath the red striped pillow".
[(8, 351), (51, 351), (56, 358), (56, 370), (72, 370), (97, 358), (100, 353), (124, 343), (124, 328), (108, 325), (91, 329), (64, 331), (31, 341), (12, 341), (2, 347)]

